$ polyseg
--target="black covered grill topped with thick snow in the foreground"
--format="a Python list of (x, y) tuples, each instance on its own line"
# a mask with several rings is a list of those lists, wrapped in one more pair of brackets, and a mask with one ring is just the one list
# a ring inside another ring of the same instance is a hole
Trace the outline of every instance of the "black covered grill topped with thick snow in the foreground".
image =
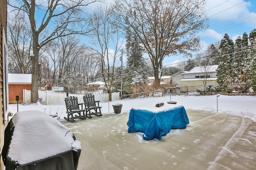
[(6, 169), (72, 170), (78, 166), (81, 143), (57, 119), (40, 111), (20, 111), (5, 130), (2, 156)]

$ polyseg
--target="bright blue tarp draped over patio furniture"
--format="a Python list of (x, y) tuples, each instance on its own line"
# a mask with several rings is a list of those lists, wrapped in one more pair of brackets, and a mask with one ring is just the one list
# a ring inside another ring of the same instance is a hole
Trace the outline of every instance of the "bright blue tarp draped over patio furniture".
[(186, 128), (189, 123), (184, 107), (152, 113), (145, 110), (130, 110), (128, 133), (142, 132), (144, 140), (161, 139), (171, 129)]

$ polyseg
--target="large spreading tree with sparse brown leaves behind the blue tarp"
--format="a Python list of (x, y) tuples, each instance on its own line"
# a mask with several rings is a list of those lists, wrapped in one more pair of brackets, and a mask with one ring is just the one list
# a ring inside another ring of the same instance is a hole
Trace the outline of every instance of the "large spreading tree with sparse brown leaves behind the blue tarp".
[(135, 30), (160, 84), (164, 57), (196, 51), (195, 34), (208, 27), (204, 0), (115, 0), (120, 24)]

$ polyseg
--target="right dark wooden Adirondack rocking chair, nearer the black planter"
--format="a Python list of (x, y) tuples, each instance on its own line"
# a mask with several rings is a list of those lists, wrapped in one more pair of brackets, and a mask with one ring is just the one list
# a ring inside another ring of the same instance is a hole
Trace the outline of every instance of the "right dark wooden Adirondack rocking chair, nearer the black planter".
[[(101, 107), (99, 106), (100, 101), (95, 101), (94, 100), (94, 95), (93, 94), (86, 94), (83, 96), (84, 98), (84, 106), (86, 109), (86, 117), (92, 118), (92, 115), (97, 115), (97, 116), (102, 116), (101, 114)], [(98, 103), (98, 106), (96, 106), (96, 103)], [(94, 112), (92, 112), (93, 110)]]

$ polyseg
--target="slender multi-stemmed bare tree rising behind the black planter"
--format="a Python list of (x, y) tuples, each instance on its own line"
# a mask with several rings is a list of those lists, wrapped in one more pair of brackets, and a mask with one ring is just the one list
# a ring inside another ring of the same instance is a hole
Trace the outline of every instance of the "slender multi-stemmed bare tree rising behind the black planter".
[[(112, 100), (111, 89), (114, 80), (114, 64), (122, 43), (119, 43), (120, 30), (116, 26), (116, 19), (110, 13), (109, 7), (100, 6), (91, 16), (90, 29), (92, 39), (95, 39), (95, 50), (100, 54), (100, 67), (103, 80)], [(113, 45), (110, 47), (110, 45)]]

